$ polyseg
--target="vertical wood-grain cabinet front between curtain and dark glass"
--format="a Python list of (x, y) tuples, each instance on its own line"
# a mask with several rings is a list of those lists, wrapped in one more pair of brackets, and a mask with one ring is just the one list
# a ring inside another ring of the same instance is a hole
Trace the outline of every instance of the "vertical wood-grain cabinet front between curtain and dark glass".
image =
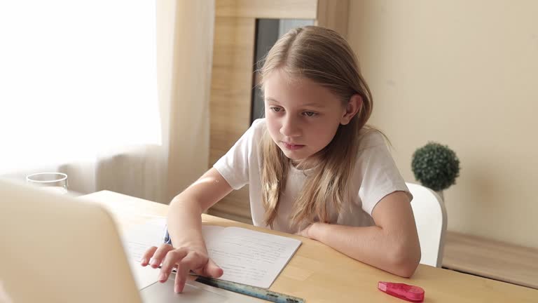
[[(254, 18), (215, 18), (209, 104), (210, 166), (226, 154), (250, 126), (255, 27)], [(208, 213), (251, 222), (248, 187), (233, 191)]]

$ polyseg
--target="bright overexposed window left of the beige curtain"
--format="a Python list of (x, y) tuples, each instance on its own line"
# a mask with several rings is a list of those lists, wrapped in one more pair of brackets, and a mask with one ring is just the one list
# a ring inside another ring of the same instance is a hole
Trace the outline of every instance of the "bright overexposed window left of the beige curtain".
[(2, 1), (0, 173), (160, 144), (154, 1)]

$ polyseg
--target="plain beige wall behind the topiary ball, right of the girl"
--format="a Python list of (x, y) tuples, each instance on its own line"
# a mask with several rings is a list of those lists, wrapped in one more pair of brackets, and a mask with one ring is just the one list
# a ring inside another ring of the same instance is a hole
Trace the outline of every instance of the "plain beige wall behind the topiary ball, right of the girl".
[(352, 0), (371, 123), (403, 177), (429, 140), (460, 157), (448, 229), (538, 248), (538, 1)]

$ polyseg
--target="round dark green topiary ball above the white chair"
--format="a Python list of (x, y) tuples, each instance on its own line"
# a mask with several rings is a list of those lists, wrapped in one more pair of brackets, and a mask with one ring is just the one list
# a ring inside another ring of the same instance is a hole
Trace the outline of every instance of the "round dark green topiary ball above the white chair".
[(411, 169), (415, 179), (434, 191), (443, 191), (456, 183), (460, 175), (460, 160), (446, 145), (428, 142), (413, 154)]

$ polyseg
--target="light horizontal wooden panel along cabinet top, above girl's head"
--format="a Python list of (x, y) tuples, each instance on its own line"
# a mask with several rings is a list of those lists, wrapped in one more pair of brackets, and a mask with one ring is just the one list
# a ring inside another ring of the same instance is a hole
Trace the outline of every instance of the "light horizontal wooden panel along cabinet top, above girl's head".
[(315, 19), (317, 0), (217, 0), (218, 17)]

